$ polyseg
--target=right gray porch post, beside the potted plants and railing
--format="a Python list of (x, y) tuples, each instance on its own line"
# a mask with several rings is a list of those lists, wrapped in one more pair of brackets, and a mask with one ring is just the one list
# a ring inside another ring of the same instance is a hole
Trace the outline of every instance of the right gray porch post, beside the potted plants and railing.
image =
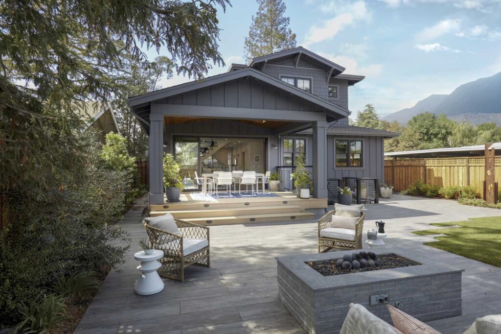
[(327, 198), (327, 121), (313, 127), (313, 197)]

